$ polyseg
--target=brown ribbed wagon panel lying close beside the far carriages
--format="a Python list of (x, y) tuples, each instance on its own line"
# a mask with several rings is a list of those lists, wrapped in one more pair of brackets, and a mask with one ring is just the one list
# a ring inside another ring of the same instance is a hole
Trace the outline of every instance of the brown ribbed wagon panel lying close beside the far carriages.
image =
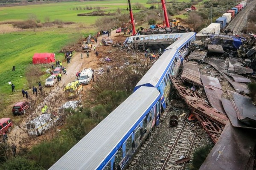
[(183, 62), (181, 79), (202, 86), (197, 62)]

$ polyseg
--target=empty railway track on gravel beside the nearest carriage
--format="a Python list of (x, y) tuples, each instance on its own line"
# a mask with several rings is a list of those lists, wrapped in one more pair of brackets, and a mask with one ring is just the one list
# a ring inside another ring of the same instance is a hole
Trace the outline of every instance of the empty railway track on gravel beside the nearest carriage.
[[(166, 152), (168, 155), (163, 155), (161, 159), (162, 167), (160, 170), (183, 170), (185, 168), (186, 159), (189, 160), (189, 153), (195, 141), (197, 130), (192, 130), (193, 125), (187, 121), (183, 125), (178, 125), (175, 130), (175, 136), (172, 138)], [(184, 160), (185, 162), (179, 163), (178, 161)]]

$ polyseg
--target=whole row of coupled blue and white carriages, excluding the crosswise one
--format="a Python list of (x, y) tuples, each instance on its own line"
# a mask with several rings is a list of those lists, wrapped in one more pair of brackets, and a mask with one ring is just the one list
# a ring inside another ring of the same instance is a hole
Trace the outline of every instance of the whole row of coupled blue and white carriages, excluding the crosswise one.
[(49, 170), (124, 170), (159, 125), (171, 88), (168, 75), (177, 73), (193, 40), (195, 33), (187, 33), (166, 48), (134, 93)]

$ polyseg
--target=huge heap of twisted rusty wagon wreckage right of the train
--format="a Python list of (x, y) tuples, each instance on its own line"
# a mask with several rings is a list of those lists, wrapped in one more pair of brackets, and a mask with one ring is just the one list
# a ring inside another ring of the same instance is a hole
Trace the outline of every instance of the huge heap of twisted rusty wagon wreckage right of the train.
[[(251, 160), (255, 155), (256, 140), (251, 135), (256, 131), (256, 106), (248, 97), (250, 91), (247, 86), (251, 79), (256, 78), (253, 38), (245, 42), (244, 38), (218, 35), (208, 37), (204, 44), (195, 41), (190, 47), (194, 51), (183, 62), (180, 77), (170, 77), (173, 89), (191, 110), (189, 119), (194, 117), (200, 122), (216, 144), (201, 169), (212, 169), (213, 162), (221, 160), (220, 155), (224, 152), (222, 160), (218, 161), (222, 169), (225, 169), (227, 162), (229, 165), (232, 162), (241, 163), (239, 160), (247, 162), (237, 165), (239, 169), (253, 167)], [(215, 53), (220, 51), (222, 55)], [(207, 66), (202, 67), (198, 63)], [(212, 77), (213, 71), (217, 73), (217, 78)], [(233, 88), (224, 87), (224, 84)], [(246, 146), (244, 139), (248, 139)], [(239, 152), (230, 153), (231, 149)], [(244, 156), (239, 154), (244, 152)]]

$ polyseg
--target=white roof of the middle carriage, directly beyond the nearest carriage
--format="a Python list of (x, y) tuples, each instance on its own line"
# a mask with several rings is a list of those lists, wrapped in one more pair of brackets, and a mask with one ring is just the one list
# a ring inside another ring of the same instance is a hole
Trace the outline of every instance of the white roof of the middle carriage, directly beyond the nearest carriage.
[(140, 79), (140, 81), (135, 86), (134, 91), (140, 88), (140, 86), (158, 87), (163, 79), (163, 76), (165, 75), (164, 73), (172, 64), (176, 54), (177, 51), (175, 49), (164, 51), (160, 58), (157, 59), (154, 65), (152, 65), (147, 73)]

